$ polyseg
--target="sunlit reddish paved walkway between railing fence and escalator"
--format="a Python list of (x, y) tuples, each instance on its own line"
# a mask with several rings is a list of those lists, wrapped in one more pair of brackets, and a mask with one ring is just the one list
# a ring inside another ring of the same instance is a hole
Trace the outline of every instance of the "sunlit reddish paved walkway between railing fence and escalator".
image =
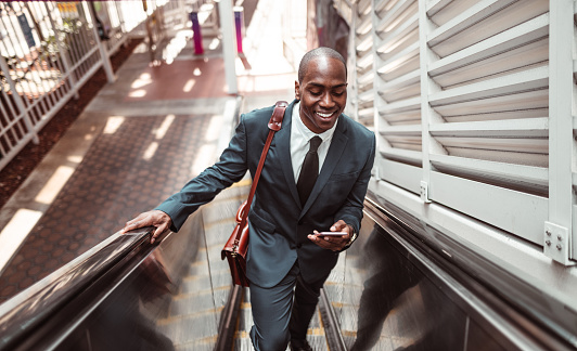
[[(282, 55), (273, 4), (258, 1), (251, 21), (256, 27), (247, 28), (247, 38), (275, 38), (244, 41), (242, 112), (294, 96), (296, 74)], [(192, 54), (191, 40), (181, 48), (156, 65), (144, 43), (137, 48), (116, 82), (0, 210), (0, 303), (156, 206), (218, 157), (240, 100), (226, 91), (220, 46), (203, 57)]]

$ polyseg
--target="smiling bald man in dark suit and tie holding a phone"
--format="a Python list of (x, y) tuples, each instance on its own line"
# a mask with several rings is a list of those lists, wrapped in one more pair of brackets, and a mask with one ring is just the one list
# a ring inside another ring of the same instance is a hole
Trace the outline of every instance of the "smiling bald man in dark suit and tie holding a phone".
[[(311, 350), (308, 324), (338, 252), (352, 244), (360, 229), (375, 154), (374, 134), (342, 114), (347, 70), (336, 51), (318, 48), (305, 54), (295, 95), (272, 140), (248, 214), (246, 270), (256, 350), (285, 350), (288, 341), (292, 350)], [(247, 169), (254, 174), (272, 109), (243, 115), (217, 164), (123, 231), (156, 226), (154, 242), (167, 230), (178, 231), (190, 213), (240, 181)], [(303, 161), (307, 154), (312, 162)], [(300, 177), (303, 164), (307, 166)], [(312, 184), (303, 190), (302, 181)]]

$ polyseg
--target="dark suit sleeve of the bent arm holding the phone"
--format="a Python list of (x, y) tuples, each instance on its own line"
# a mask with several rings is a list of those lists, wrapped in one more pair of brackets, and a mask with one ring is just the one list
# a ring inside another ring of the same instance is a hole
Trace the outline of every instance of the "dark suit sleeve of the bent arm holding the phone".
[(372, 134), (370, 139), (369, 157), (362, 168), (357, 182), (349, 192), (345, 203), (336, 212), (334, 221), (343, 220), (345, 223), (352, 225), (355, 233), (359, 233), (360, 222), (362, 220), (362, 209), (364, 207), (364, 196), (367, 195), (367, 188), (369, 187), (369, 181), (371, 180), (371, 170), (373, 169), (374, 155), (375, 155), (375, 136)]

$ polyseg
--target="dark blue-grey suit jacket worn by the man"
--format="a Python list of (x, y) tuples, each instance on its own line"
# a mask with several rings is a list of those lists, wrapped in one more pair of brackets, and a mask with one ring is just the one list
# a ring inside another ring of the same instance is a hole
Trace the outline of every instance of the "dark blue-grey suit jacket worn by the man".
[[(297, 259), (305, 281), (329, 276), (338, 252), (317, 246), (307, 235), (313, 230), (329, 231), (338, 220), (358, 233), (374, 161), (374, 133), (341, 115), (317, 183), (305, 206), (300, 206), (290, 154), (294, 104), (286, 108), (282, 129), (272, 140), (248, 214), (247, 276), (261, 287), (278, 284)], [(247, 169), (254, 176), (272, 109), (242, 115), (220, 160), (157, 207), (172, 219), (172, 231), (178, 231), (201, 205), (240, 181)]]

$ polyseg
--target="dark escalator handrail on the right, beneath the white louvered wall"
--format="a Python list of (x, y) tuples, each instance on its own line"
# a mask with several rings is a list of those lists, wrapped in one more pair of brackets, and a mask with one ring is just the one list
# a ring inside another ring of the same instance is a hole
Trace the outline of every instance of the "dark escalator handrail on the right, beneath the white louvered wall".
[(454, 234), (439, 232), (392, 204), (369, 203), (410, 232), (406, 238), (414, 246), (546, 349), (577, 349), (577, 311), (457, 242)]

